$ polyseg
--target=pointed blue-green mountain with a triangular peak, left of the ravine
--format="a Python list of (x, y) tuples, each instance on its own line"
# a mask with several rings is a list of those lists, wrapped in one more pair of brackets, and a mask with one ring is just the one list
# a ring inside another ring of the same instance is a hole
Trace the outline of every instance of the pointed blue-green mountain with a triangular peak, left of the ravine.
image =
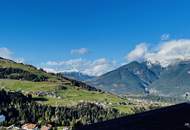
[(146, 63), (134, 61), (108, 72), (89, 83), (117, 94), (142, 94), (146, 92), (148, 85), (158, 79), (159, 75), (156, 71), (157, 68), (151, 70)]

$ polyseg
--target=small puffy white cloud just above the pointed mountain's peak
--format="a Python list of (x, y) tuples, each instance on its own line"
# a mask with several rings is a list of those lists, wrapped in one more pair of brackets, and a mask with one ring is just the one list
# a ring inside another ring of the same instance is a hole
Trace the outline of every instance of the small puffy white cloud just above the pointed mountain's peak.
[(126, 59), (128, 62), (131, 61), (143, 61), (144, 57), (148, 51), (148, 46), (146, 43), (138, 44), (134, 50), (132, 50), (127, 56)]

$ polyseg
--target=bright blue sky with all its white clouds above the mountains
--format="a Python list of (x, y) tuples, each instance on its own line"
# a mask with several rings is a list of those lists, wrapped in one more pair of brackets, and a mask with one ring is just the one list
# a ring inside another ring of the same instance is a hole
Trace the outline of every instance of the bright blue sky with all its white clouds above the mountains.
[(167, 66), (190, 56), (189, 5), (189, 0), (2, 0), (0, 56), (51, 72), (96, 76), (133, 60)]

